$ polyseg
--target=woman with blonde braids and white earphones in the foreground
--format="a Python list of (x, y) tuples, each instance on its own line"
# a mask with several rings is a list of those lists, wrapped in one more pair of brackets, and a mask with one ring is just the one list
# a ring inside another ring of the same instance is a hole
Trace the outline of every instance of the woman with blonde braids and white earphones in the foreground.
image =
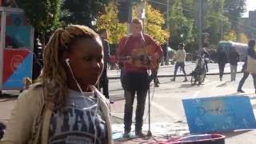
[(94, 87), (103, 70), (98, 34), (56, 30), (43, 63), (38, 82), (18, 97), (3, 143), (112, 143), (110, 103)]

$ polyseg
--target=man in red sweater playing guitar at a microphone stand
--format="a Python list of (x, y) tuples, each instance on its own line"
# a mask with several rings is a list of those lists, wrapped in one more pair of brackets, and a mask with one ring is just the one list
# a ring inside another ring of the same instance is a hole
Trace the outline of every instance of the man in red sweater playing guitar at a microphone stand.
[[(130, 58), (127, 61), (122, 61), (121, 79), (126, 98), (123, 137), (130, 137), (135, 93), (137, 94), (138, 103), (135, 118), (135, 135), (143, 137), (145, 134), (142, 133), (142, 118), (146, 94), (150, 85), (147, 70), (158, 67), (158, 61), (156, 63), (155, 59), (161, 58), (162, 48), (149, 35), (142, 34), (142, 21), (135, 18), (131, 22), (131, 34), (121, 38), (118, 43), (117, 55), (119, 62), (122, 58)], [(145, 59), (148, 62), (144, 62)], [(153, 63), (157, 66), (153, 66)]]

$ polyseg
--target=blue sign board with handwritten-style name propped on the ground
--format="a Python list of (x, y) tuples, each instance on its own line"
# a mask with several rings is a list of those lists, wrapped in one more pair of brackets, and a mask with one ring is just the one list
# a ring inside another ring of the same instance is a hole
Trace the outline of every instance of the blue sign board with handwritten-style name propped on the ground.
[(248, 96), (191, 98), (182, 100), (190, 133), (255, 129)]

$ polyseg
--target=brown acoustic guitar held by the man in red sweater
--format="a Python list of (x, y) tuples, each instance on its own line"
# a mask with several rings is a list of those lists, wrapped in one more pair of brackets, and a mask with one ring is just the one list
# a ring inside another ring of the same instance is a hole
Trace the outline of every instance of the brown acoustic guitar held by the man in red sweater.
[(157, 58), (154, 57), (155, 53), (154, 46), (147, 45), (144, 48), (134, 49), (130, 56), (119, 57), (118, 62), (128, 62), (138, 68), (154, 70), (158, 68), (160, 60), (159, 56)]

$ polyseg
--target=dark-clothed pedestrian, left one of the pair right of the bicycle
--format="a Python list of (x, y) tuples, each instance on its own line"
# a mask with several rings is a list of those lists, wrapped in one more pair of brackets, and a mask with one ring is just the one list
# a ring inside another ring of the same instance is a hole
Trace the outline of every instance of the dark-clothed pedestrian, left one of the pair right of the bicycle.
[(223, 48), (219, 47), (216, 54), (216, 59), (218, 62), (218, 70), (219, 70), (219, 79), (222, 81), (225, 65), (227, 62), (227, 55)]

